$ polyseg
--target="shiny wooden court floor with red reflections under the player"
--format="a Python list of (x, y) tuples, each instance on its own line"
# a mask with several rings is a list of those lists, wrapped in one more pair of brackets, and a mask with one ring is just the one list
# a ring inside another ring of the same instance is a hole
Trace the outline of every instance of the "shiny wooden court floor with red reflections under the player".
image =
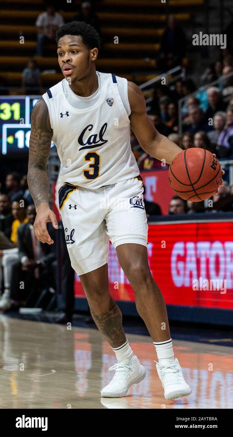
[(119, 399), (102, 398), (115, 362), (97, 331), (0, 316), (0, 408), (231, 409), (233, 348), (173, 340), (192, 394), (167, 401), (149, 336), (127, 338), (146, 378)]

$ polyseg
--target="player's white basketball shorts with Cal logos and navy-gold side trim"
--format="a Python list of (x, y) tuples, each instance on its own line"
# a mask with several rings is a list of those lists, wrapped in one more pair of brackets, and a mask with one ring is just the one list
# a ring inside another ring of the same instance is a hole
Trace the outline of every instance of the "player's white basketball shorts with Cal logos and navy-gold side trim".
[(109, 240), (147, 247), (147, 218), (140, 176), (96, 190), (63, 184), (59, 209), (71, 265), (78, 275), (108, 262)]

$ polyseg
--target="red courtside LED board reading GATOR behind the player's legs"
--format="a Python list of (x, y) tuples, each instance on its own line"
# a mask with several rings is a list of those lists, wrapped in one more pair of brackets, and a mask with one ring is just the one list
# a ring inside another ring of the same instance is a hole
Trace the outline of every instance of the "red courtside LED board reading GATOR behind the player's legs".
[[(150, 224), (148, 242), (150, 270), (167, 304), (233, 309), (232, 222)], [(112, 297), (134, 301), (111, 244), (108, 273)], [(78, 277), (75, 295), (84, 296)]]

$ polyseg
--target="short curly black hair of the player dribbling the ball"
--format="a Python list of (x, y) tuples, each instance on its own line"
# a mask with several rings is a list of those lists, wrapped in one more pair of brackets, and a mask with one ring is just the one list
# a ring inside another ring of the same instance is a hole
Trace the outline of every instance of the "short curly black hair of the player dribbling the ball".
[(95, 47), (100, 49), (100, 37), (98, 32), (90, 24), (84, 21), (71, 21), (71, 23), (61, 26), (56, 33), (56, 42), (64, 35), (80, 35), (83, 40), (83, 44), (88, 49), (94, 49)]

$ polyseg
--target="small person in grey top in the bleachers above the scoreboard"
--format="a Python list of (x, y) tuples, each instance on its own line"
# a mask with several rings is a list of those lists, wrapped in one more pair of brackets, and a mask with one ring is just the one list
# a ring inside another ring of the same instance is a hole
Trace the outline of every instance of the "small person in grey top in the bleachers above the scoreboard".
[[(35, 59), (28, 60), (28, 65), (22, 72), (21, 87), (25, 88), (27, 94), (40, 94), (42, 87), (41, 73)], [(38, 87), (31, 90), (31, 87)]]

